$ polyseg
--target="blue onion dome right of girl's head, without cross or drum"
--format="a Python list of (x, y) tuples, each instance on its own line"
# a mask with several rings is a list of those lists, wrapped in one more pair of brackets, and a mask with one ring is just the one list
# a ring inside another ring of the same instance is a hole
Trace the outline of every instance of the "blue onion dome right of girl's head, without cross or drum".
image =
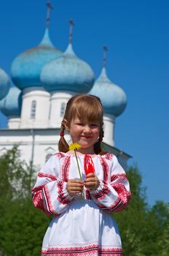
[(127, 105), (125, 92), (119, 86), (111, 83), (104, 67), (89, 94), (99, 97), (103, 104), (104, 113), (114, 116), (119, 116)]

